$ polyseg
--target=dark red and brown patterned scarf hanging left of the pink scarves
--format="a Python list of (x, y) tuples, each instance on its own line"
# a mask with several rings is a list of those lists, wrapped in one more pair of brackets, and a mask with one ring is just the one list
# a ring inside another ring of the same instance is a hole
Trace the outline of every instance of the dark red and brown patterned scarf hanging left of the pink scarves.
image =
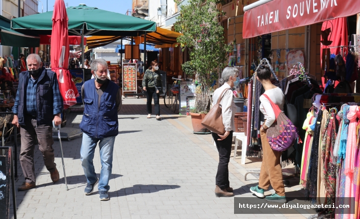
[(333, 154), (332, 149), (335, 145), (335, 140), (337, 137), (336, 134), (336, 125), (335, 125), (335, 113), (331, 113), (331, 116), (327, 121), (327, 130), (323, 139), (322, 144), (322, 162), (324, 164), (323, 168), (323, 179), (326, 190), (327, 204), (332, 205), (335, 203), (336, 197), (336, 165), (333, 164)]

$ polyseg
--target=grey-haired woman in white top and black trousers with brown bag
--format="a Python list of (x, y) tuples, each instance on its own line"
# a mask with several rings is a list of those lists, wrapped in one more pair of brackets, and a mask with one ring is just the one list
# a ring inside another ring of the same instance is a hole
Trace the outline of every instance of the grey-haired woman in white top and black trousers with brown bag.
[(233, 188), (230, 187), (228, 164), (233, 144), (233, 132), (235, 131), (235, 113), (236, 105), (234, 103), (234, 93), (232, 87), (239, 85), (239, 71), (233, 67), (227, 67), (222, 72), (220, 83), (223, 84), (217, 88), (213, 95), (213, 104), (222, 97), (219, 106), (221, 107), (222, 122), (225, 128), (224, 135), (212, 133), (216, 147), (219, 151), (219, 165), (216, 173), (216, 197), (234, 196)]

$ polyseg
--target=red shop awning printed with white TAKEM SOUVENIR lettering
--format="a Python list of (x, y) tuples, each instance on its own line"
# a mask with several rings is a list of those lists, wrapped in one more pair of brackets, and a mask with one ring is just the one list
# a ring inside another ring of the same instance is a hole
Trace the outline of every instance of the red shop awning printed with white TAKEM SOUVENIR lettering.
[(245, 11), (243, 38), (360, 13), (359, 0), (273, 0)]

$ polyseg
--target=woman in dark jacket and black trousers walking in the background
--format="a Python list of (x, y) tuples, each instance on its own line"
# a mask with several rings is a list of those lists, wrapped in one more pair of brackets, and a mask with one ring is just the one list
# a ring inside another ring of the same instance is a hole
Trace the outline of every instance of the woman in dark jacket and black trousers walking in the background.
[(157, 61), (151, 61), (151, 65), (149, 69), (145, 71), (144, 77), (142, 79), (143, 90), (146, 92), (146, 107), (147, 107), (147, 118), (151, 118), (152, 113), (152, 98), (154, 99), (155, 105), (155, 114), (156, 119), (161, 120), (160, 117), (160, 105), (159, 105), (159, 97), (160, 90), (162, 90), (162, 81), (159, 70), (159, 65)]

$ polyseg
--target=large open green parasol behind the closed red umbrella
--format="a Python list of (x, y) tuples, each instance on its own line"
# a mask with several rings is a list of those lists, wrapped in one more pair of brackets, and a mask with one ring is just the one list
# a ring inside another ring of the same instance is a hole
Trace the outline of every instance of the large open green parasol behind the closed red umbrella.
[[(66, 9), (69, 18), (69, 35), (137, 37), (155, 32), (156, 23), (115, 12), (104, 11), (81, 4)], [(22, 34), (51, 35), (53, 11), (11, 20), (11, 28)], [(82, 42), (84, 42), (82, 40)], [(84, 45), (84, 44), (83, 44)], [(83, 50), (84, 51), (84, 48)], [(84, 56), (84, 52), (82, 52)], [(84, 61), (84, 57), (82, 58)]]

